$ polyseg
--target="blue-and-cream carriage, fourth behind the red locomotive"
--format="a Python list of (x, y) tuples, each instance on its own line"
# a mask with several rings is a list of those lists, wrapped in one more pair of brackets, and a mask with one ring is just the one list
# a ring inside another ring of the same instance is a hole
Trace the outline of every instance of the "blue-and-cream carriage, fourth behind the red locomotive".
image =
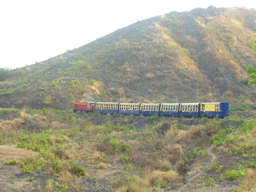
[(161, 116), (166, 116), (166, 117), (171, 117), (179, 116), (179, 103), (161, 103), (160, 104), (160, 115)]

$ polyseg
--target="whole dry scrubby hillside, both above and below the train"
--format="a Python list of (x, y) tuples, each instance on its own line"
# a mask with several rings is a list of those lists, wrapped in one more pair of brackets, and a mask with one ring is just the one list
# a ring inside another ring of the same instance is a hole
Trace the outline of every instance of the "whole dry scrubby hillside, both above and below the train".
[[(35, 192), (254, 192), (256, 10), (136, 22), (0, 68), (0, 186)], [(224, 119), (73, 113), (73, 102), (229, 102)]]

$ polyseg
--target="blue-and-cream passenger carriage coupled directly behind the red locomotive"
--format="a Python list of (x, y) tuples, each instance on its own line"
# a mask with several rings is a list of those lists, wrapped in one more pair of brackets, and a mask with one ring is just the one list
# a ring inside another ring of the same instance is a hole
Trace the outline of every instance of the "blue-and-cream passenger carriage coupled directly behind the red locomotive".
[(96, 112), (99, 112), (101, 114), (107, 114), (110, 113), (116, 114), (118, 113), (118, 106), (119, 103), (113, 103), (113, 102), (96, 102)]

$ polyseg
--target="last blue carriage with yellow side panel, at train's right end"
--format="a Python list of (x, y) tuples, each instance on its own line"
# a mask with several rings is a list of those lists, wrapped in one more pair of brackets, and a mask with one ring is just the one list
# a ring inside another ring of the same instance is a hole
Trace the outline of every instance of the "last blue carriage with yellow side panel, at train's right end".
[(200, 116), (224, 118), (229, 115), (229, 106), (227, 102), (201, 103)]

